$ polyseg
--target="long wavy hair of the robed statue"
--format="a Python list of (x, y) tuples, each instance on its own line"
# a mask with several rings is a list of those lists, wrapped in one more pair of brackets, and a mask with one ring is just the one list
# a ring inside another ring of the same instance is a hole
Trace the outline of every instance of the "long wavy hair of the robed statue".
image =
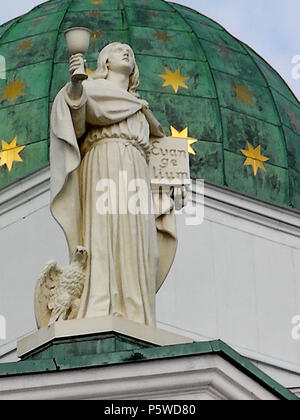
[[(100, 54), (97, 60), (97, 69), (95, 73), (90, 76), (92, 79), (107, 79), (108, 72), (109, 72), (109, 68), (108, 68), (109, 55), (112, 49), (117, 45), (122, 45), (122, 44), (120, 42), (112, 42), (111, 44), (106, 45), (106, 47), (104, 47), (100, 51)], [(134, 57), (134, 52), (131, 48), (130, 48), (130, 52)], [(128, 92), (136, 97), (139, 97), (139, 95), (136, 93), (136, 90), (140, 84), (139, 76), (140, 76), (139, 68), (136, 64), (136, 61), (134, 60), (134, 69), (131, 75), (129, 76)]]

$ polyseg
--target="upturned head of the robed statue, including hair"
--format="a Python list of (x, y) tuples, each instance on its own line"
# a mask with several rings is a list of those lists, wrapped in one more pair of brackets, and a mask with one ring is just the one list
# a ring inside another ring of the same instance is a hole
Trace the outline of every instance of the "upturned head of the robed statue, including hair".
[[(93, 79), (106, 79), (109, 71), (124, 72), (129, 76), (128, 91), (136, 95), (139, 86), (139, 69), (135, 61), (134, 52), (127, 44), (113, 42), (104, 47), (99, 54), (97, 70)], [(136, 95), (137, 96), (137, 95)]]

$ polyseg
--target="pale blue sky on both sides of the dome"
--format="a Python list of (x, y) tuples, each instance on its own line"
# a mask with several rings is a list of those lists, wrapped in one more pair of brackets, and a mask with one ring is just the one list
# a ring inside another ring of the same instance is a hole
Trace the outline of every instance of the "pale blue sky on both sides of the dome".
[[(300, 100), (300, 0), (176, 0), (214, 19), (252, 47)], [(0, 25), (43, 0), (0, 0)]]

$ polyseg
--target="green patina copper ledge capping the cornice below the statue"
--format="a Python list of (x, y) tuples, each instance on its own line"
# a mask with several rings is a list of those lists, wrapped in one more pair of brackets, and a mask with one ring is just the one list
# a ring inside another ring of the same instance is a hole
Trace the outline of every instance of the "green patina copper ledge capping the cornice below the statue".
[(151, 360), (216, 354), (260, 383), (282, 400), (299, 400), (287, 388), (221, 340), (171, 346), (154, 346), (119, 333), (102, 333), (77, 338), (60, 338), (37, 349), (19, 362), (0, 363), (1, 378), (17, 375), (139, 363)]

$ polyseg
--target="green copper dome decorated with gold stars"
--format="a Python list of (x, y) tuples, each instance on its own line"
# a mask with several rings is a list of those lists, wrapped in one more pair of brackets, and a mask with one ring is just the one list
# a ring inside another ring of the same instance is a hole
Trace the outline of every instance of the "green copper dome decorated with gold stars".
[(298, 100), (220, 25), (163, 0), (51, 0), (0, 26), (0, 188), (48, 163), (49, 109), (69, 80), (63, 32), (72, 26), (93, 31), (90, 71), (104, 45), (132, 46), (139, 92), (165, 132), (198, 140), (193, 178), (300, 210)]

